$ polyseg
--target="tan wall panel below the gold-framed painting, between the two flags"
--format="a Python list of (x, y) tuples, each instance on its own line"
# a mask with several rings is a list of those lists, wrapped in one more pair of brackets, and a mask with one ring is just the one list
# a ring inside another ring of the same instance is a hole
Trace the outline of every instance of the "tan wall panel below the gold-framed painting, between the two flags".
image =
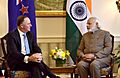
[(38, 37), (65, 37), (65, 17), (38, 17)]

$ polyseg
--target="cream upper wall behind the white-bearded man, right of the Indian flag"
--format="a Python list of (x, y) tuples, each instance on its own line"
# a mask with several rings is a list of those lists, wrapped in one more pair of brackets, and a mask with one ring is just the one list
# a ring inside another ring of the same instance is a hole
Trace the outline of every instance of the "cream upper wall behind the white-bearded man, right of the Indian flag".
[(92, 0), (92, 14), (100, 19), (103, 29), (120, 36), (120, 13), (116, 0)]

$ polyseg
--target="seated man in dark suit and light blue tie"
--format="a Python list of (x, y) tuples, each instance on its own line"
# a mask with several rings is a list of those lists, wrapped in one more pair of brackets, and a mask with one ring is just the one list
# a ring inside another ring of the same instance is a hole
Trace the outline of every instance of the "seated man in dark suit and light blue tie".
[[(60, 78), (54, 75), (49, 67), (42, 61), (42, 52), (30, 32), (32, 27), (30, 19), (19, 16), (18, 28), (9, 33), (7, 38), (8, 65), (12, 70), (27, 70), (31, 72), (32, 78), (43, 78), (42, 72), (50, 78)], [(24, 42), (27, 36), (27, 48)]]

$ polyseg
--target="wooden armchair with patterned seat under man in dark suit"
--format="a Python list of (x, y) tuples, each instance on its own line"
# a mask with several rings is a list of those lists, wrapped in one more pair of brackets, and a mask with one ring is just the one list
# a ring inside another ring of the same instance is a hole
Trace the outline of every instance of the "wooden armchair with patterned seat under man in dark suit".
[(30, 77), (30, 72), (28, 71), (15, 71), (15, 70), (11, 70), (8, 66), (8, 63), (7, 63), (7, 44), (6, 44), (6, 40), (7, 40), (7, 37), (9, 36), (9, 33), (6, 34), (4, 37), (1, 38), (1, 46), (2, 46), (2, 51), (3, 51), (3, 56), (1, 58), (1, 60), (3, 61), (3, 68), (5, 70), (5, 78), (29, 78)]

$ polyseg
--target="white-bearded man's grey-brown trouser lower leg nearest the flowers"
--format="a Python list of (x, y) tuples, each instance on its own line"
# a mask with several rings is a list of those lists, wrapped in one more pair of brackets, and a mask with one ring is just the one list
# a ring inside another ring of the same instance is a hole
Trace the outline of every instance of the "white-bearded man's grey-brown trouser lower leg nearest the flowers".
[(80, 74), (80, 78), (88, 78), (89, 73), (89, 63), (80, 61), (77, 65), (78, 72)]

